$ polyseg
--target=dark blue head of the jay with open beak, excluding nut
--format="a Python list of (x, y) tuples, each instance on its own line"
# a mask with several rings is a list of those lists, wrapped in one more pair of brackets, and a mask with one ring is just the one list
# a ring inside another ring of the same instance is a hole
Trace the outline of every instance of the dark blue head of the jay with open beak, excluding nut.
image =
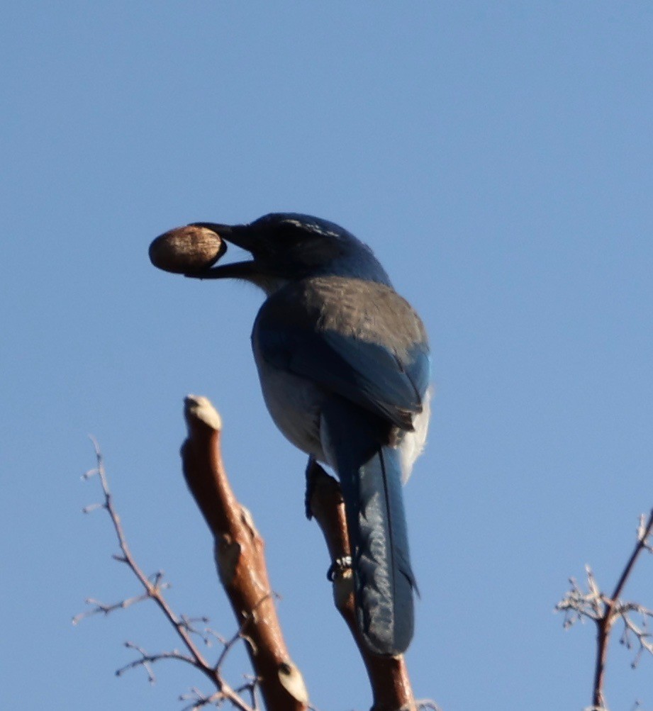
[(248, 225), (193, 224), (242, 247), (252, 259), (218, 264), (189, 276), (246, 279), (268, 294), (288, 282), (323, 274), (390, 283), (370, 248), (327, 220), (297, 213), (271, 213)]

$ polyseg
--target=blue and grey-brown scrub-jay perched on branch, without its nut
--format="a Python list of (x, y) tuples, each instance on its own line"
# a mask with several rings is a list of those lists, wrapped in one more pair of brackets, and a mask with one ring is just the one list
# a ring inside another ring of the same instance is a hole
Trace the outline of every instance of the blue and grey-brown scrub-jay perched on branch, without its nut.
[(267, 295), (252, 331), (265, 404), (292, 444), (338, 474), (359, 627), (374, 653), (403, 653), (415, 579), (401, 484), (429, 419), (422, 321), (370, 248), (327, 220), (196, 226), (253, 256), (188, 276), (245, 279)]

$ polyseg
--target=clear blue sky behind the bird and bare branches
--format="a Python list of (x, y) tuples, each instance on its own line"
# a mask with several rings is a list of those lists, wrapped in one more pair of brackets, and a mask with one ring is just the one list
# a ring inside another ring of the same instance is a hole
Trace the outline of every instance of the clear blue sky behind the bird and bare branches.
[[(150, 240), (279, 210), (368, 242), (430, 333), (428, 451), (406, 492), (422, 592), (415, 692), (445, 711), (580, 710), (594, 631), (553, 606), (607, 589), (653, 506), (653, 6), (634, 1), (142, 1), (2, 11), (0, 707), (181, 708), (132, 655), (178, 646), (138, 592), (97, 482), (99, 439), (139, 562), (235, 626), (181, 478), (182, 399), (225, 420), (235, 489), (267, 538), (294, 661), (322, 710), (365, 709), (363, 669), (303, 515), (304, 456), (265, 411), (261, 298), (154, 269)], [(235, 251), (230, 252), (235, 255)], [(653, 560), (627, 594), (653, 606)], [(613, 711), (653, 709), (653, 660), (615, 644)], [(246, 671), (229, 667), (232, 683)]]

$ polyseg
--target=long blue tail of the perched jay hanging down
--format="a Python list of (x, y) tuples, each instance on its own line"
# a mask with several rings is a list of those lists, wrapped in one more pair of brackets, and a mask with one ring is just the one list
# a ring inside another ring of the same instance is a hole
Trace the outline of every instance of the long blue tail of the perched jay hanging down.
[(397, 449), (376, 419), (334, 402), (322, 411), (322, 445), (344, 497), (359, 628), (377, 654), (403, 653), (413, 638), (413, 587)]

